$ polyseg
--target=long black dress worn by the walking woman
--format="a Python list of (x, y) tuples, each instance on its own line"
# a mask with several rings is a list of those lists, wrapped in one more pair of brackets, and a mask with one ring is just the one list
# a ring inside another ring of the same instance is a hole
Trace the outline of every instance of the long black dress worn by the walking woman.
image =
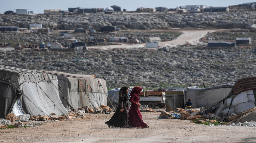
[[(123, 97), (119, 97), (119, 104), (114, 115), (109, 121), (106, 122), (106, 124), (109, 124), (113, 127), (130, 127), (130, 123), (128, 121), (128, 111), (126, 109), (126, 107), (129, 107), (127, 104), (129, 97), (127, 94), (124, 93), (122, 94), (122, 96)], [(120, 109), (122, 108), (124, 109), (123, 112), (120, 111)]]

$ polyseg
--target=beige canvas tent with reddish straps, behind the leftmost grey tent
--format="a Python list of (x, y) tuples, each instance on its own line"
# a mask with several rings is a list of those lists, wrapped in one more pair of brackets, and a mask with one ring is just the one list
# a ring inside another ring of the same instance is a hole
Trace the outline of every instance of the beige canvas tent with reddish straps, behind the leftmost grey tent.
[[(57, 76), (62, 94), (75, 109), (84, 106), (99, 107), (107, 105), (106, 81), (93, 78), (94, 75), (77, 75), (70, 73), (42, 71)], [(59, 95), (63, 105), (68, 108), (66, 99)]]

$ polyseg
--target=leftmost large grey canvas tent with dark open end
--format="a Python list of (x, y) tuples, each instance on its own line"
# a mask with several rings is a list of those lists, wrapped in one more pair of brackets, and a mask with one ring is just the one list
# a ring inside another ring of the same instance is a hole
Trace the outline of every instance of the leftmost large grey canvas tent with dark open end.
[(0, 80), (0, 118), (11, 111), (31, 116), (67, 113), (54, 75), (0, 65)]

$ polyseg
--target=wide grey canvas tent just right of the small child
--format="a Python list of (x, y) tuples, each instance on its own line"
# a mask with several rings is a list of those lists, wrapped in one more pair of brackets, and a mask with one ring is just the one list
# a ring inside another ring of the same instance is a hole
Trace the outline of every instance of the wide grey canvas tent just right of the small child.
[(222, 85), (211, 88), (187, 88), (185, 101), (192, 99), (193, 108), (208, 107), (227, 97), (232, 85)]

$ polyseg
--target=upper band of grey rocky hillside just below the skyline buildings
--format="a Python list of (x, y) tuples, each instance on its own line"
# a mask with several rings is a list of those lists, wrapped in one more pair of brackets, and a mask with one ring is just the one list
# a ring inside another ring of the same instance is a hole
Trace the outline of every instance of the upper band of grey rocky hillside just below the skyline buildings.
[(254, 9), (230, 9), (230, 12), (204, 13), (117, 13), (81, 15), (0, 15), (1, 26), (28, 28), (29, 23), (42, 23), (43, 27), (74, 30), (113, 25), (125, 29), (163, 29), (170, 27), (193, 28), (247, 28), (256, 23)]

